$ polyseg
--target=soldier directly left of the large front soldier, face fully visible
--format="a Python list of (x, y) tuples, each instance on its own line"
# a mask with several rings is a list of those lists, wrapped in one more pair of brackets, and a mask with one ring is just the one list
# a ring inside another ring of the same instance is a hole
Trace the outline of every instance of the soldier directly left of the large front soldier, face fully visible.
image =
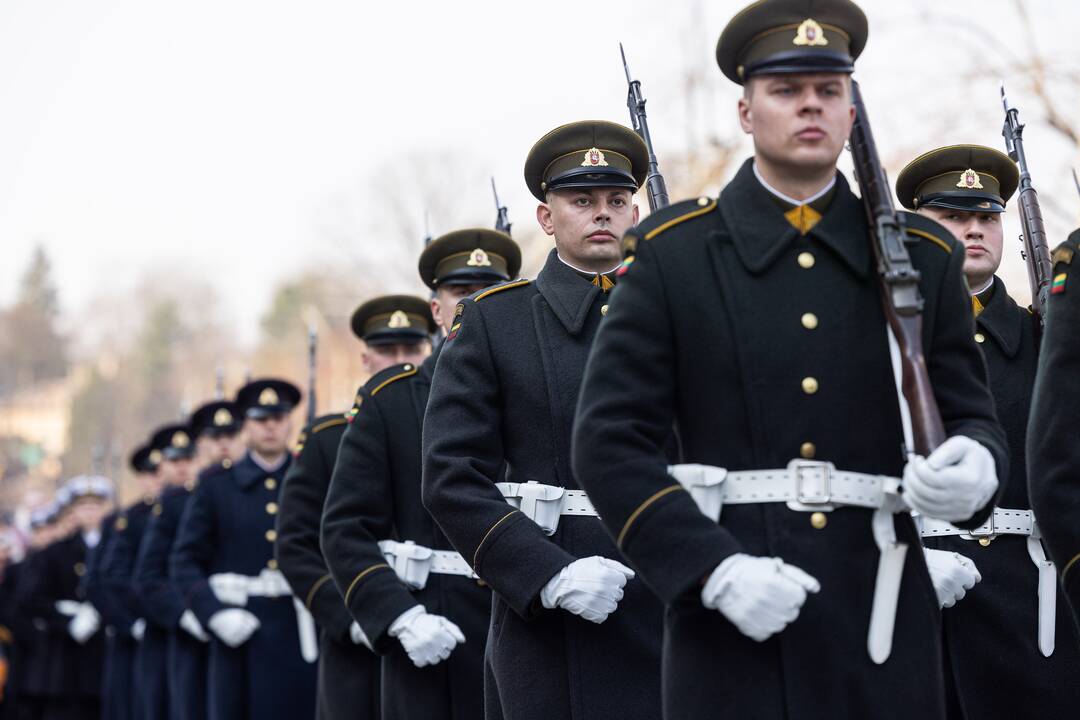
[(487, 717), (660, 717), (662, 608), (588, 512), (569, 454), (647, 163), (610, 122), (537, 141), (525, 179), (555, 248), (536, 281), (459, 305), (432, 379), (423, 503), (495, 593)]

